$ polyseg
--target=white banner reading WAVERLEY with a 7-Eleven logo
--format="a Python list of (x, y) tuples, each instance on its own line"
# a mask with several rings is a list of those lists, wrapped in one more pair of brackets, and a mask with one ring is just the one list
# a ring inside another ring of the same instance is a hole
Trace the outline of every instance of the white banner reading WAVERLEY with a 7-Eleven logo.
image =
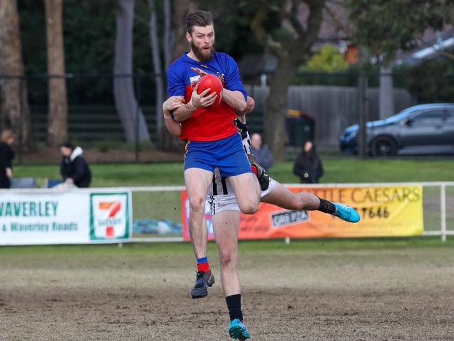
[(3, 191), (0, 245), (85, 244), (131, 238), (131, 191)]

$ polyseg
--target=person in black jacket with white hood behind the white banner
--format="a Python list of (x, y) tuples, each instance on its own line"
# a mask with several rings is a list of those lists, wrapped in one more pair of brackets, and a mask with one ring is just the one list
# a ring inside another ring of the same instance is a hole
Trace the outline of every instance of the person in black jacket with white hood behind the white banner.
[(67, 184), (75, 184), (77, 187), (89, 187), (91, 171), (83, 156), (81, 147), (74, 147), (71, 143), (62, 143), (60, 152), (61, 176)]

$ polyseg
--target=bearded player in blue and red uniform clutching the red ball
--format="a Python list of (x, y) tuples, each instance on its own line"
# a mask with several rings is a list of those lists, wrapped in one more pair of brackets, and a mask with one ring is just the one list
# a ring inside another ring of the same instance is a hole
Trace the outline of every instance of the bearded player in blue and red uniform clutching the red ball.
[[(184, 96), (186, 100), (173, 111), (172, 117), (182, 123), (180, 137), (187, 141), (184, 182), (189, 197), (189, 233), (198, 270), (191, 296), (198, 298), (207, 294), (205, 283), (209, 286), (214, 283), (206, 255), (207, 230), (203, 225), (205, 198), (214, 168), (229, 179), (235, 193), (241, 191), (237, 202), (244, 213), (253, 214), (258, 209), (260, 187), (234, 124), (235, 110), (246, 107), (246, 92), (235, 61), (224, 53), (214, 52), (212, 14), (203, 10), (189, 13), (186, 38), (191, 50), (169, 66), (168, 93)], [(216, 108), (208, 109), (216, 101), (216, 93), (207, 95), (209, 89), (197, 93), (200, 75), (192, 68), (202, 68), (224, 81), (222, 101)]]

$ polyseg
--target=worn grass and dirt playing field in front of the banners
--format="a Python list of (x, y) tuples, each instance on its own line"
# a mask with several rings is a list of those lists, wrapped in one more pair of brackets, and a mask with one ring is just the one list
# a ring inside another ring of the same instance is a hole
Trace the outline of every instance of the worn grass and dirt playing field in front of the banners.
[[(452, 340), (454, 238), (240, 242), (251, 340)], [(228, 340), (188, 243), (0, 248), (1, 340)]]

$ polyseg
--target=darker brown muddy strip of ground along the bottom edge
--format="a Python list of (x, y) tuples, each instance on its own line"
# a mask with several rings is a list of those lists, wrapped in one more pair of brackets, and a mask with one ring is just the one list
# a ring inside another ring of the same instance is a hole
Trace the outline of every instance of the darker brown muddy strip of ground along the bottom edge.
[[(2, 340), (228, 340), (221, 292), (186, 291), (3, 291)], [(452, 340), (453, 294), (245, 288), (244, 321), (254, 340)]]

